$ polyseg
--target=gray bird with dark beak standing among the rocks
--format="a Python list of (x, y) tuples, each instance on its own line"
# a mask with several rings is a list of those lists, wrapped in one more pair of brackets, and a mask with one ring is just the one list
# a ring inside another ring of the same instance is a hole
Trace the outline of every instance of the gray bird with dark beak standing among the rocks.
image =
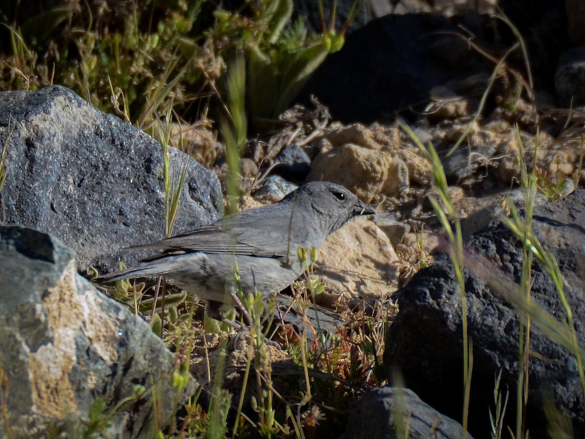
[(133, 248), (159, 249), (141, 267), (95, 280), (114, 281), (162, 275), (202, 299), (207, 314), (231, 301), (235, 267), (245, 293), (283, 290), (305, 270), (298, 248), (319, 248), (326, 236), (357, 215), (373, 214), (343, 186), (313, 181), (278, 203), (228, 215), (205, 227)]

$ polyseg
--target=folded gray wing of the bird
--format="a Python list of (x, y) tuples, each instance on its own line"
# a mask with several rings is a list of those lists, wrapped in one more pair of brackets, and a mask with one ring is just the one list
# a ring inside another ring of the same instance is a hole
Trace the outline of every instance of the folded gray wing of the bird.
[(297, 251), (290, 245), (290, 215), (290, 209), (257, 208), (191, 232), (133, 248), (160, 249), (164, 252), (160, 256), (205, 252), (285, 257), (289, 252), (295, 254)]

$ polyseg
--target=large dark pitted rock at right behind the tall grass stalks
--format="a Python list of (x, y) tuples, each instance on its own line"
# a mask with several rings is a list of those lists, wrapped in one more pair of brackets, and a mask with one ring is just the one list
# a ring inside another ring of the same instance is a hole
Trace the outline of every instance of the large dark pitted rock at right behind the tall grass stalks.
[[(577, 337), (585, 344), (585, 190), (555, 204), (538, 207), (532, 229), (559, 263), (565, 294), (572, 309)], [(472, 235), (466, 249), (485, 258), (505, 276), (519, 283), (522, 248), (505, 225), (491, 222)], [(465, 274), (467, 321), (473, 340), (473, 379), (470, 433), (488, 437), (488, 407), (493, 407), (494, 379), (502, 370), (500, 389), (510, 392), (507, 424), (514, 429), (518, 368), (517, 310), (490, 289), (479, 276)], [(532, 266), (532, 298), (564, 322), (566, 314), (550, 277), (539, 263)], [(384, 361), (397, 367), (405, 383), (441, 413), (460, 419), (462, 410), (462, 319), (449, 257), (439, 255), (401, 291), (400, 309), (388, 333)], [(531, 331), (528, 428), (533, 438), (548, 437), (543, 393), (552, 394), (560, 413), (572, 420), (574, 437), (585, 437), (585, 411), (576, 359), (550, 341), (534, 324)]]

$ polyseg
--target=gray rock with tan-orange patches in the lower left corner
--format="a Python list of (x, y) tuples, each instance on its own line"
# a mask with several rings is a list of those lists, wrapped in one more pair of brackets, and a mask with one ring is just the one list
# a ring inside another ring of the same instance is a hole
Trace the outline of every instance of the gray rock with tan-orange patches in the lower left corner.
[(0, 273), (0, 366), (8, 378), (0, 437), (47, 437), (47, 422), (61, 428), (66, 419), (82, 433), (96, 397), (111, 410), (135, 385), (146, 392), (102, 433), (153, 437), (155, 417), (172, 421), (174, 407), (194, 393), (192, 378), (173, 390), (174, 355), (149, 324), (77, 274), (74, 252), (59, 239), (1, 226)]

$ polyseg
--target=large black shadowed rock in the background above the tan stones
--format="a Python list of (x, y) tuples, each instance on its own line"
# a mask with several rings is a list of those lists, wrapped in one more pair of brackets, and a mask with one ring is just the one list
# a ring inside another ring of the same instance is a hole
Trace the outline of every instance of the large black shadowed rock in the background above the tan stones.
[[(387, 15), (347, 36), (343, 49), (329, 55), (309, 78), (301, 97), (315, 95), (344, 123), (369, 124), (411, 106), (422, 109), (429, 91), (458, 77), (479, 73), (483, 64), (465, 47), (463, 70), (439, 59), (434, 47), (443, 32), (457, 32), (457, 23), (477, 30), (473, 20), (432, 14)], [(485, 20), (481, 18), (480, 20)], [(481, 30), (477, 30), (481, 33)], [(443, 51), (452, 58), (459, 41)]]

